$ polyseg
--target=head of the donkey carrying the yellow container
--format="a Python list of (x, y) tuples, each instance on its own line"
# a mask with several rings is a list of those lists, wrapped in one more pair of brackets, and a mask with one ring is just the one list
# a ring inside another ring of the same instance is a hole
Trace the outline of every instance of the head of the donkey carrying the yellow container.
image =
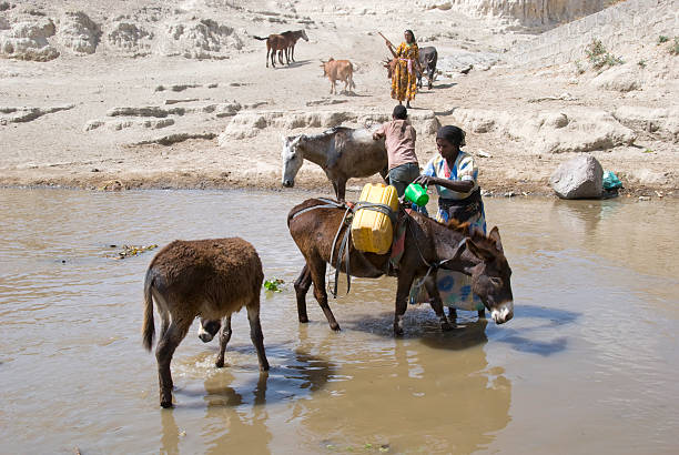
[[(459, 230), (460, 226), (457, 226)], [(456, 228), (450, 228), (456, 229)], [(439, 256), (448, 259), (444, 269), (459, 270), (472, 275), (472, 291), (478, 295), (490, 311), (496, 324), (504, 324), (514, 317), (514, 297), (511, 295), (511, 269), (500, 241), (499, 231), (493, 228), (486, 236), (478, 232), (468, 232), (468, 236), (450, 251), (448, 244)]]

